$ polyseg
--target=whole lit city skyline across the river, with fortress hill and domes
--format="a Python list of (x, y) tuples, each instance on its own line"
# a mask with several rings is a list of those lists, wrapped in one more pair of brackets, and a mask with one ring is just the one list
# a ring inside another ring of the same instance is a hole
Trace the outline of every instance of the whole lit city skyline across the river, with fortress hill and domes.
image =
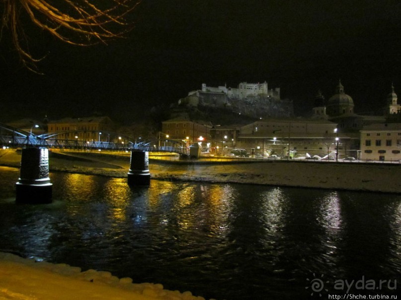
[(339, 81), (327, 101), (318, 91), (311, 99), (310, 116), (301, 118), (294, 116), (291, 100), (281, 99), (280, 88), (269, 89), (266, 81), (241, 82), (235, 88), (203, 83), (172, 105), (156, 125), (118, 126), (107, 116), (23, 119), (8, 125), (87, 142), (110, 141), (110, 134), (101, 132), (117, 132), (136, 140), (181, 142), (186, 147), (199, 143), (209, 155), (232, 155), (233, 149), (244, 149), (259, 157), (295, 158), (335, 151), (338, 158), (401, 160), (401, 106), (393, 85), (383, 98), (382, 114), (355, 114), (353, 99)]

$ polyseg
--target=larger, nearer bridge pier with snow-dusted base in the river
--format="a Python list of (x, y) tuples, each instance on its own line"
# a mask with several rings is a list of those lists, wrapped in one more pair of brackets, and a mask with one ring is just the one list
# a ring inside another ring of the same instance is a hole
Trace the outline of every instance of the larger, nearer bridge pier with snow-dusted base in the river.
[(49, 178), (49, 150), (44, 147), (22, 149), (21, 170), (15, 184), (17, 203), (51, 203), (52, 183)]

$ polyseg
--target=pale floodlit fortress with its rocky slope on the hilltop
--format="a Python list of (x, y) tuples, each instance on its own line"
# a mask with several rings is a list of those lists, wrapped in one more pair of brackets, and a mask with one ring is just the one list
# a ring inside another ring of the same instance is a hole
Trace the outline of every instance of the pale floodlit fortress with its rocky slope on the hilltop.
[(280, 88), (268, 89), (267, 82), (241, 82), (238, 88), (210, 87), (202, 84), (200, 90), (191, 91), (178, 101), (179, 106), (217, 107), (254, 118), (292, 117), (293, 102), (280, 98)]

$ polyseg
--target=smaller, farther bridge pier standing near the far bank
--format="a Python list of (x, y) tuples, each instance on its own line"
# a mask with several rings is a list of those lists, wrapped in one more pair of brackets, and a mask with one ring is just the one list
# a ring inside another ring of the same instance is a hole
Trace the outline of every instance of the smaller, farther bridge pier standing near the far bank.
[(151, 184), (151, 174), (149, 173), (149, 152), (138, 150), (131, 151), (130, 171), (128, 172), (128, 184)]

